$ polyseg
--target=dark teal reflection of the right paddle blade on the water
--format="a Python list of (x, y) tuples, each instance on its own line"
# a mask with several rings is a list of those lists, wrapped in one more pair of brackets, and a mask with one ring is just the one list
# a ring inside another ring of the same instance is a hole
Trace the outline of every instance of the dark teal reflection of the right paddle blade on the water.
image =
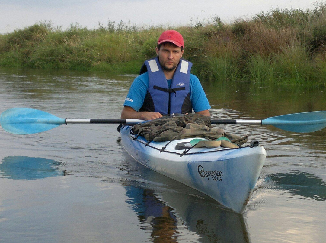
[(316, 201), (326, 200), (326, 183), (311, 173), (275, 173), (265, 178), (266, 182), (275, 185), (276, 189), (287, 190), (292, 194)]

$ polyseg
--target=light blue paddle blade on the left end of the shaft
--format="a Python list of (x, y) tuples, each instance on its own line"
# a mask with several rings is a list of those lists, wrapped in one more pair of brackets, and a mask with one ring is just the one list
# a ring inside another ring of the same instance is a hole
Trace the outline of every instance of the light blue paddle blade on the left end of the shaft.
[(0, 124), (8, 133), (33, 134), (65, 124), (65, 119), (37, 109), (12, 108), (1, 113)]

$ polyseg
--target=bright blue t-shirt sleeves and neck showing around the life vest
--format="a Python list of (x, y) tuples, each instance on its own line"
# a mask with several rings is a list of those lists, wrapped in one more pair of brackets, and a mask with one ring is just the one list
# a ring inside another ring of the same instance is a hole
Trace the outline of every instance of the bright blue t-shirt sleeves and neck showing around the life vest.
[[(172, 79), (167, 80), (169, 88), (172, 83)], [(148, 73), (145, 72), (135, 78), (134, 82), (132, 82), (128, 95), (125, 99), (124, 106), (130, 106), (132, 109), (139, 111), (141, 109), (145, 96), (147, 94), (147, 89), (149, 85)], [(211, 106), (208, 103), (208, 99), (205, 95), (205, 92), (199, 82), (199, 79), (190, 74), (190, 100), (192, 109), (195, 112), (199, 112), (202, 110), (208, 110)]]

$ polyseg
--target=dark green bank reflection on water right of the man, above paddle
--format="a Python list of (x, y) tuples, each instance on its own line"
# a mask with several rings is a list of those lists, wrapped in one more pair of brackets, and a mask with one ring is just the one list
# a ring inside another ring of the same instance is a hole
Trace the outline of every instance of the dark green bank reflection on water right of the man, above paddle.
[[(324, 110), (325, 90), (250, 82), (202, 82), (213, 109), (241, 111), (252, 119)], [(304, 100), (304, 102), (302, 102)]]

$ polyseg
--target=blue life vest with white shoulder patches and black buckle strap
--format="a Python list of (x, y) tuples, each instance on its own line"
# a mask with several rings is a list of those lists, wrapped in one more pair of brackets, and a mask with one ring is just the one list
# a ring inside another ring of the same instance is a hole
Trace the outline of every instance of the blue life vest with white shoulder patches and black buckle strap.
[[(165, 78), (158, 57), (146, 60), (149, 85), (140, 111), (172, 113), (192, 113), (190, 101), (190, 69), (192, 63), (181, 58), (174, 72), (171, 86)], [(144, 71), (144, 65), (141, 70)]]

